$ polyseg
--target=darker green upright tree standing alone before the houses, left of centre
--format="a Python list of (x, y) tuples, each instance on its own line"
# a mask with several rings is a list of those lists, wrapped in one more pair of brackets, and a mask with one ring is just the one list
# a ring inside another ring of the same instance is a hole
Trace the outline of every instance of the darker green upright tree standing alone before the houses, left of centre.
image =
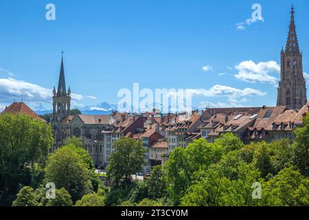
[(115, 141), (113, 148), (115, 151), (111, 153), (107, 168), (108, 179), (112, 179), (116, 186), (121, 182), (128, 186), (132, 175), (141, 171), (145, 164), (145, 148), (140, 140), (129, 137)]

